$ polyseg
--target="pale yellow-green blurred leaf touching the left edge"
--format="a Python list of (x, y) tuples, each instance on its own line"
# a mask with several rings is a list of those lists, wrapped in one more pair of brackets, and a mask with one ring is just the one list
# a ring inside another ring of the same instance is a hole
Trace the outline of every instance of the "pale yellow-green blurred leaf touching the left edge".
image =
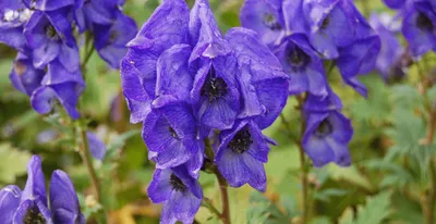
[(15, 177), (26, 173), (31, 154), (12, 148), (10, 144), (0, 142), (0, 183), (12, 184)]

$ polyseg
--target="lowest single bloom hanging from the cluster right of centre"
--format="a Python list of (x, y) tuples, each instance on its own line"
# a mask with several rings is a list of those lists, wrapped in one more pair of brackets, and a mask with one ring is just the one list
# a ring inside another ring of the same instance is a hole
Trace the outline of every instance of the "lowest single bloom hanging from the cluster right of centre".
[(306, 111), (303, 148), (316, 167), (329, 162), (341, 166), (351, 164), (348, 144), (353, 136), (350, 120), (337, 110)]

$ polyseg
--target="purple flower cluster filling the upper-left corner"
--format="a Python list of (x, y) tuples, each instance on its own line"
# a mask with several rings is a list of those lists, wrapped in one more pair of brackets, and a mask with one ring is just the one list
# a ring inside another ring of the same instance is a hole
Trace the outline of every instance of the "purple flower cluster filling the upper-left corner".
[(57, 99), (71, 117), (78, 117), (77, 98), (85, 83), (76, 36), (85, 30), (93, 34), (100, 57), (110, 66), (119, 66), (125, 43), (136, 34), (136, 24), (121, 12), (121, 3), (0, 0), (0, 42), (19, 50), (10, 79), (31, 97), (38, 113), (50, 112)]

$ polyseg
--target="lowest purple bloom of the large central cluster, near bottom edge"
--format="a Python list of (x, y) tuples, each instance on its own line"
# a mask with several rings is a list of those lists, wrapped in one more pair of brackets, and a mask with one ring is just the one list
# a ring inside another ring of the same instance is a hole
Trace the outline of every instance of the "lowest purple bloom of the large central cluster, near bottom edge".
[(160, 223), (193, 223), (203, 200), (202, 186), (184, 166), (157, 169), (147, 192), (154, 203), (164, 202)]

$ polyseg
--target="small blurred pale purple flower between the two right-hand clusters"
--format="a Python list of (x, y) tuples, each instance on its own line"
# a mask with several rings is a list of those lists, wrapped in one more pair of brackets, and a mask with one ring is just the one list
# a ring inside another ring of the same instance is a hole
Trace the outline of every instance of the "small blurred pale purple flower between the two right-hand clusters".
[(401, 57), (404, 52), (396, 33), (392, 32), (392, 24), (396, 22), (388, 14), (372, 14), (371, 25), (382, 40), (382, 49), (376, 61), (376, 69), (382, 73), (386, 82), (391, 78), (404, 76), (401, 65)]

